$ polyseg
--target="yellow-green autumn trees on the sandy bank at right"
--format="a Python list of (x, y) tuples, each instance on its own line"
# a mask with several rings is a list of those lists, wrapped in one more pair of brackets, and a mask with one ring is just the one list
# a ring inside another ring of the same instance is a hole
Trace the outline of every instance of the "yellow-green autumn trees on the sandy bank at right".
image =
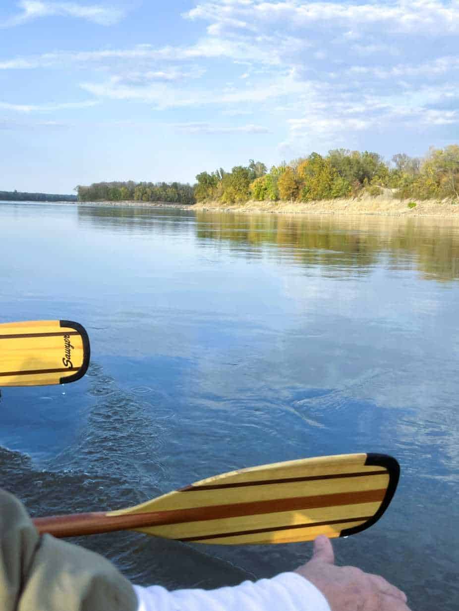
[(430, 148), (424, 159), (398, 153), (388, 164), (378, 153), (330, 150), (311, 153), (290, 163), (272, 166), (250, 159), (248, 166), (222, 168), (196, 176), (198, 202), (247, 202), (249, 199), (309, 202), (337, 197), (356, 197), (365, 192), (381, 194), (396, 189), (400, 199), (457, 199), (459, 201), (459, 146)]

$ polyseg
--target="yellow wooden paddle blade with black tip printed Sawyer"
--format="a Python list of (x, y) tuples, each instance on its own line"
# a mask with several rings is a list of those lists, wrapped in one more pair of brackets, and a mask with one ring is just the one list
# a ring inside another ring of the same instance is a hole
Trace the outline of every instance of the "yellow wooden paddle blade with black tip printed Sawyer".
[(69, 320), (0, 324), (0, 386), (45, 386), (82, 378), (89, 338)]

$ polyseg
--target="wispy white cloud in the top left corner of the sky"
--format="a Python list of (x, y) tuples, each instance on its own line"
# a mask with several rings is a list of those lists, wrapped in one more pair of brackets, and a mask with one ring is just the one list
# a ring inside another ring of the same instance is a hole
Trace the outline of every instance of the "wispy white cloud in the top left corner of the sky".
[(40, 17), (65, 16), (78, 17), (102, 26), (118, 23), (123, 16), (122, 10), (97, 4), (82, 5), (76, 2), (42, 2), (41, 0), (22, 0), (18, 2), (20, 12), (12, 15), (6, 21), (0, 22), (0, 27), (20, 26)]

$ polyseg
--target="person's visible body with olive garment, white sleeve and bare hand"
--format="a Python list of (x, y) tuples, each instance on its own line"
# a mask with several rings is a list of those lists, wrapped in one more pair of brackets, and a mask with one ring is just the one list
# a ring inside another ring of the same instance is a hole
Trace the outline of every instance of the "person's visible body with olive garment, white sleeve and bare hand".
[(105, 558), (39, 536), (23, 505), (0, 491), (2, 611), (409, 611), (383, 577), (334, 566), (330, 541), (293, 573), (218, 590), (167, 591), (130, 582)]

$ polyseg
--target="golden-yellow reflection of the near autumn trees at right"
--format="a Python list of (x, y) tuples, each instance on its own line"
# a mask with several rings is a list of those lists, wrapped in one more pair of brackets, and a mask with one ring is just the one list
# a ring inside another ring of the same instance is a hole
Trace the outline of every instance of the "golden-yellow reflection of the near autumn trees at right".
[[(459, 226), (433, 218), (196, 213), (201, 240), (279, 246), (307, 265), (365, 268), (385, 254), (395, 269), (413, 261), (425, 278), (459, 277)], [(368, 271), (368, 269), (367, 269)]]

